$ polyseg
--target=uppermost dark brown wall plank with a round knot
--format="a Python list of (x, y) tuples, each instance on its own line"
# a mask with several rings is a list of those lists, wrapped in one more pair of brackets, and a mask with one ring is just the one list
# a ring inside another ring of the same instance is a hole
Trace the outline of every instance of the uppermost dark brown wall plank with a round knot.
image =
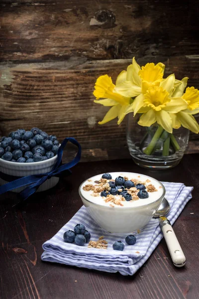
[(1, 1), (1, 57), (121, 59), (195, 55), (199, 0)]

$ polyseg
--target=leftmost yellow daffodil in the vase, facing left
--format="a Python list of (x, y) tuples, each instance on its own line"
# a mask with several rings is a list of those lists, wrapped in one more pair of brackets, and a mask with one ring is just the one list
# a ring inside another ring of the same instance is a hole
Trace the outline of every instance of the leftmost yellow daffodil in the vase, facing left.
[[(121, 72), (116, 80), (116, 85), (126, 80), (126, 73)], [(118, 117), (117, 124), (119, 125), (126, 115), (126, 110), (130, 105), (130, 97), (125, 97), (115, 91), (115, 85), (112, 83), (112, 79), (108, 75), (100, 76), (95, 85), (94, 96), (95, 103), (103, 106), (111, 107), (104, 116), (103, 120), (99, 122), (103, 125), (116, 117)], [(104, 98), (100, 100), (100, 98)]]

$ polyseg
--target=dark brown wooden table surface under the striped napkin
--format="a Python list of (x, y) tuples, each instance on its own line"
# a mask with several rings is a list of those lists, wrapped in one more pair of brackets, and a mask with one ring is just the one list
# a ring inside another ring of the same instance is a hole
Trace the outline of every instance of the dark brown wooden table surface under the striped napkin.
[[(173, 169), (140, 168), (131, 159), (79, 163), (73, 174), (24, 204), (14, 193), (0, 196), (1, 299), (199, 298), (199, 155), (185, 155)], [(193, 199), (174, 224), (187, 258), (175, 268), (164, 240), (132, 277), (42, 262), (42, 244), (82, 206), (80, 183), (96, 173), (133, 171), (194, 186)]]

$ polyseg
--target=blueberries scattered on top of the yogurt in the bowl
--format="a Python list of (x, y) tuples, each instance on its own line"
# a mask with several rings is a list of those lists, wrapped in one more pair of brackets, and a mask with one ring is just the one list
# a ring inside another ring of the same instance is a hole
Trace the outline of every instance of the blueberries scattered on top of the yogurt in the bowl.
[[(106, 178), (106, 179), (112, 179), (112, 176), (109, 173), (104, 173), (102, 175), (102, 178)], [(146, 187), (143, 184), (134, 184), (132, 181), (130, 180), (125, 180), (122, 176), (117, 176), (115, 178), (115, 181), (109, 181), (108, 184), (110, 185), (110, 190), (104, 190), (101, 192), (101, 196), (107, 196), (109, 194), (112, 195), (122, 195), (127, 201), (132, 199), (131, 194), (128, 193), (128, 190), (126, 189), (130, 189), (132, 187), (136, 187), (137, 189), (139, 189), (140, 191), (137, 193), (137, 196), (139, 198), (148, 198), (149, 194), (148, 192), (145, 190)], [(121, 191), (118, 191), (119, 189), (122, 189)]]

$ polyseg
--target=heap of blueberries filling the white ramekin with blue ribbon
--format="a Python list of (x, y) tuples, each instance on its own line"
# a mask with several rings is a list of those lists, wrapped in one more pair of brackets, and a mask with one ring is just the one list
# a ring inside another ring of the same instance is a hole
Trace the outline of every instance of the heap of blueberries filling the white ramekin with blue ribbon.
[(59, 141), (56, 136), (48, 135), (38, 128), (30, 131), (18, 129), (0, 140), (1, 159), (12, 162), (44, 161), (56, 155), (58, 149)]

